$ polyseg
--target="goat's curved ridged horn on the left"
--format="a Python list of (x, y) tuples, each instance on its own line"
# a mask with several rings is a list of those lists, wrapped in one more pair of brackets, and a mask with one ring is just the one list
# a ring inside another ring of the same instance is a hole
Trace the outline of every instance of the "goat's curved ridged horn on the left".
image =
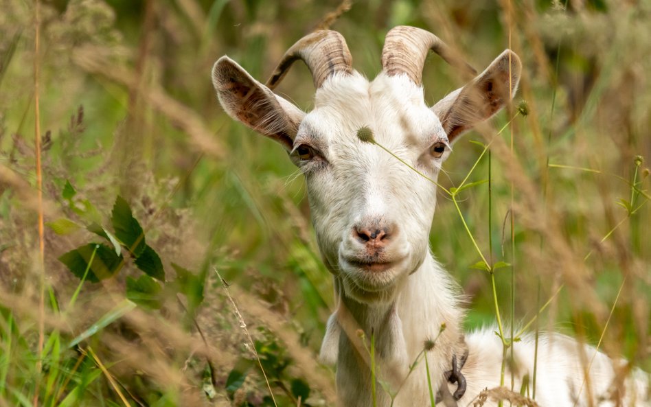
[(352, 73), (352, 56), (343, 36), (336, 31), (322, 30), (312, 32), (297, 41), (287, 50), (266, 86), (269, 89), (284, 78), (295, 60), (304, 60), (319, 89), (323, 81), (335, 72)]

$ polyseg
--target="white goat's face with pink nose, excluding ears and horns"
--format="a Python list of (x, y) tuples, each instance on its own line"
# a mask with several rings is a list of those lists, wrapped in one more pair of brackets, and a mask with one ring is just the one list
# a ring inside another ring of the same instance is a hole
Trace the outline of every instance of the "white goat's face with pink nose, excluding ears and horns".
[(291, 156), (306, 175), (321, 253), (348, 296), (374, 301), (390, 297), (424, 259), (436, 186), (358, 132), (434, 179), (449, 144), (405, 75), (371, 83), (337, 75), (301, 121)]

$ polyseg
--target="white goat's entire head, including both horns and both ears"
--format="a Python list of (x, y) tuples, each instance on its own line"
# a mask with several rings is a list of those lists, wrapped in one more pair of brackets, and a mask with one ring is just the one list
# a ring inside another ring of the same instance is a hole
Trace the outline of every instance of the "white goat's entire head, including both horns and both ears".
[[(521, 64), (507, 50), (466, 86), (426, 106), (421, 78), (430, 49), (472, 70), (439, 38), (414, 27), (387, 34), (382, 72), (372, 82), (352, 69), (345, 40), (332, 31), (299, 40), (266, 86), (226, 56), (213, 69), (225, 111), (282, 144), (305, 174), (325, 264), (357, 301), (391, 299), (418, 269), (436, 202), (435, 184), (363, 139), (372, 135), (435, 180), (451, 143), (499, 111), (518, 84)], [(271, 91), (297, 59), (317, 87), (307, 114)]]

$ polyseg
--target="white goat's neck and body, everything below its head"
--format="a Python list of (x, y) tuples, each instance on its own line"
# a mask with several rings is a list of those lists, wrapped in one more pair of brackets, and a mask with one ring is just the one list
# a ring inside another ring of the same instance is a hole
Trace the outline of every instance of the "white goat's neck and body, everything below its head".
[[(362, 318), (362, 321), (374, 319), (375, 326), (362, 327), (365, 332), (376, 333), (376, 354), (378, 355), (378, 371), (380, 380), (389, 382), (393, 391), (402, 386), (393, 401), (393, 407), (430, 406), (429, 390), (426, 379), (424, 360), (421, 360), (413, 372), (407, 377), (409, 365), (412, 364), (424, 346), (427, 339), (435, 339), (435, 346), (427, 353), (433, 388), (443, 384), (443, 373), (450, 369), (450, 360), (454, 354), (459, 354), (459, 336), (463, 314), (459, 311), (459, 302), (455, 296), (454, 283), (445, 270), (431, 257), (427, 256), (418, 272), (413, 273), (396, 298), (393, 307), (382, 308), (387, 315), (379, 318)], [(373, 312), (361, 303), (343, 303), (350, 315), (368, 314)], [(397, 311), (400, 327), (397, 332), (391, 327), (391, 310)], [(376, 309), (376, 311), (382, 311)], [(341, 312), (339, 310), (338, 312)], [(366, 315), (367, 316), (367, 315)], [(341, 319), (342, 317), (339, 316)], [(441, 325), (445, 329), (439, 335)], [(501, 386), (501, 365), (503, 346), (495, 334), (496, 329), (482, 329), (466, 334), (468, 360), (461, 372), (466, 377), (467, 389), (464, 397), (459, 400), (459, 406), (472, 404), (473, 400), (485, 389)], [(401, 338), (382, 338), (387, 335), (402, 336)], [(337, 358), (337, 388), (341, 398), (341, 406), (371, 407), (371, 374), (369, 364), (357, 354), (350, 340), (350, 335), (341, 334), (339, 338), (339, 356)], [(383, 343), (402, 342), (402, 349), (388, 349)], [(536, 356), (535, 338), (527, 335), (514, 344), (514, 362), (510, 362), (510, 350), (507, 353), (503, 386), (513, 388), (520, 393), (525, 381), (525, 395), (533, 393), (534, 360), (536, 366), (536, 402), (540, 406), (581, 407), (581, 406), (617, 406), (613, 401), (612, 391), (617, 388), (618, 378), (615, 377), (613, 360), (597, 351), (594, 347), (581, 345), (580, 342), (560, 334), (543, 334), (538, 340), (538, 355)], [(622, 361), (622, 364), (626, 362)], [(382, 367), (380, 367), (382, 366)], [(387, 366), (389, 367), (387, 369)], [(587, 367), (589, 382), (584, 381)], [(621, 369), (626, 375), (626, 369)], [(405, 379), (405, 377), (407, 377)], [(528, 377), (528, 379), (527, 379)], [(624, 406), (651, 406), (649, 404), (648, 374), (639, 370), (633, 375), (621, 380), (625, 393), (621, 399)], [(528, 384), (527, 384), (528, 383)], [(455, 386), (450, 385), (450, 391)], [(390, 406), (391, 399), (384, 389), (376, 386), (378, 406)], [(579, 402), (575, 403), (579, 395)], [(593, 404), (588, 399), (591, 397)], [(615, 396), (617, 398), (617, 396)], [(439, 404), (442, 405), (442, 404)], [(496, 402), (488, 397), (483, 406), (496, 406)]]

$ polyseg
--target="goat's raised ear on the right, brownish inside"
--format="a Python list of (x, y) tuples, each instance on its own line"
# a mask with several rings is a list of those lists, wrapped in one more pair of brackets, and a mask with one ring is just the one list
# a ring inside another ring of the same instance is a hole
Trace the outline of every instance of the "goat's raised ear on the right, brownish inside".
[(499, 112), (515, 95), (521, 71), (520, 58), (507, 49), (472, 82), (432, 106), (450, 142)]

